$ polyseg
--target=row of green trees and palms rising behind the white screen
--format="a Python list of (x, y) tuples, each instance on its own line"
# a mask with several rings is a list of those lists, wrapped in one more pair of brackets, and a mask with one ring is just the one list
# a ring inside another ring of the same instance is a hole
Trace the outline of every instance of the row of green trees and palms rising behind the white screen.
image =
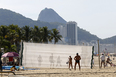
[(21, 40), (36, 43), (48, 43), (55, 40), (54, 44), (56, 44), (61, 37), (57, 29), (49, 30), (48, 27), (24, 26), (20, 28), (13, 24), (0, 26), (0, 48), (4, 48), (5, 52), (18, 52)]

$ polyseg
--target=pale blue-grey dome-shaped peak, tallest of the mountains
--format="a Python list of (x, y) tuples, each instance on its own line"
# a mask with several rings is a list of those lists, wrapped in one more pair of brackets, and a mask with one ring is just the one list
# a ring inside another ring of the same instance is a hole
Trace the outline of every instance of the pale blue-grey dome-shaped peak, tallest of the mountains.
[(60, 17), (53, 9), (45, 8), (39, 14), (38, 20), (44, 22), (59, 22), (66, 24), (66, 21)]

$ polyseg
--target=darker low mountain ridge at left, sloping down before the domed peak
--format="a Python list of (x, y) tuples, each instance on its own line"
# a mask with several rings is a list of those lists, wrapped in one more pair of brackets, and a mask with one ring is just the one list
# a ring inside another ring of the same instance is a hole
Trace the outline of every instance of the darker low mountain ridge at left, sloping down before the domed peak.
[(18, 25), (20, 27), (23, 27), (25, 25), (29, 25), (31, 27), (34, 27), (34, 25), (37, 25), (39, 27), (47, 26), (50, 29), (56, 28), (57, 24), (50, 24), (48, 22), (41, 22), (41, 21), (34, 21), (30, 18), (26, 18), (25, 16), (7, 10), (7, 9), (0, 9), (0, 25)]

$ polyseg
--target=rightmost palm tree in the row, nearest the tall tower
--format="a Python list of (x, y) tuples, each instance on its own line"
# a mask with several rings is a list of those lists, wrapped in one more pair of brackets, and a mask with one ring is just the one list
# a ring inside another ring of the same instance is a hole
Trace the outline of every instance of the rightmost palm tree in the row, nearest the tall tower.
[(58, 30), (52, 29), (51, 37), (50, 37), (49, 41), (51, 42), (52, 40), (54, 40), (54, 44), (56, 44), (59, 40), (61, 40), (61, 38), (62, 38), (62, 36), (59, 34)]

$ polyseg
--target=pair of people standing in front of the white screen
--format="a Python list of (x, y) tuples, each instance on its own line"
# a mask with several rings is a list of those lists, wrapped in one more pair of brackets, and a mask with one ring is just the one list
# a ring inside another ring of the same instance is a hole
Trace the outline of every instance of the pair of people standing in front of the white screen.
[[(79, 70), (80, 70), (80, 69), (81, 69), (81, 66), (80, 66), (81, 57), (78, 55), (78, 53), (76, 53), (76, 56), (74, 57), (74, 60), (75, 60), (74, 70), (76, 70), (76, 65), (77, 65), (77, 64), (78, 64)], [(71, 56), (69, 56), (68, 64), (69, 64), (69, 69), (70, 69), (70, 66), (71, 66), (72, 69), (73, 69), (72, 57), (71, 57)], [(71, 69), (70, 69), (70, 70), (71, 70)]]

